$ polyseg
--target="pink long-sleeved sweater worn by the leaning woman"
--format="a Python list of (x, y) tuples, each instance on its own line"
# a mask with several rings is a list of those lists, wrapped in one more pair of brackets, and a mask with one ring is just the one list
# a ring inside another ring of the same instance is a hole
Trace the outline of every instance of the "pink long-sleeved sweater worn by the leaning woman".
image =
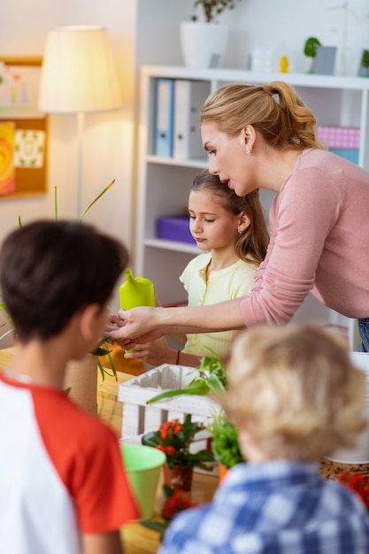
[(350, 318), (369, 318), (369, 173), (326, 150), (304, 150), (275, 196), (271, 242), (247, 327), (287, 323), (309, 291)]

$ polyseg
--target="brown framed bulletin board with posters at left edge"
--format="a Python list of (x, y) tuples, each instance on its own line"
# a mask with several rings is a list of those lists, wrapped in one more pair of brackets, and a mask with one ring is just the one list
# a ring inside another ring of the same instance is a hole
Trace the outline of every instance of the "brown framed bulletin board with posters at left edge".
[(41, 57), (0, 57), (0, 201), (47, 193), (48, 116), (37, 110)]

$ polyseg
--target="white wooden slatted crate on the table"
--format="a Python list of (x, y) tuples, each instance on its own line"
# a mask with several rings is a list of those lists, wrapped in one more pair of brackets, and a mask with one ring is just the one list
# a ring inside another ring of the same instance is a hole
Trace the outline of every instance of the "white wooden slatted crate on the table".
[(123, 403), (122, 440), (138, 442), (138, 435), (158, 429), (170, 419), (183, 421), (188, 413), (193, 421), (208, 419), (219, 412), (219, 404), (207, 396), (183, 395), (155, 404), (150, 398), (165, 389), (183, 389), (199, 372), (184, 365), (163, 364), (119, 385), (118, 399)]

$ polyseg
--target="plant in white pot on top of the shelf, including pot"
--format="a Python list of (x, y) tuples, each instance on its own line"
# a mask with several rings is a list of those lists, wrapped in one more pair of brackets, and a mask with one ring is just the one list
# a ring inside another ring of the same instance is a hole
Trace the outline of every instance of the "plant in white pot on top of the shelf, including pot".
[(227, 48), (228, 27), (217, 18), (233, 10), (240, 0), (195, 0), (194, 7), (203, 11), (204, 21), (192, 16), (181, 23), (181, 49), (188, 67), (219, 67)]

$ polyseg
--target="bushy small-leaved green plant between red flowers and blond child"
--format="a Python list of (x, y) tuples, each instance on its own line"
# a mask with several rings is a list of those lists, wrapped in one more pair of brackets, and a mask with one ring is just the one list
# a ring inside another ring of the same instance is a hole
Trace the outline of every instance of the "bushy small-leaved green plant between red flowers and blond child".
[(224, 412), (217, 412), (208, 424), (211, 433), (211, 450), (214, 458), (222, 466), (230, 467), (245, 461), (238, 445), (238, 431)]

